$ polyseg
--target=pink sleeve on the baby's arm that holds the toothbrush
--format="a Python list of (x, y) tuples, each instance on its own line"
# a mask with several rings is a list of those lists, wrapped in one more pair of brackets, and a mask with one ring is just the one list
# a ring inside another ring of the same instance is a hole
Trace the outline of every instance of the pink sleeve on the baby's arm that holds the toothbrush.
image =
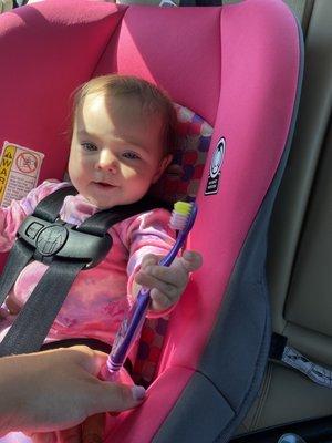
[[(132, 285), (136, 272), (141, 268), (142, 259), (147, 254), (165, 256), (175, 243), (175, 231), (169, 228), (170, 214), (166, 209), (154, 209), (128, 219), (126, 243), (129, 251), (127, 262), (127, 293), (133, 302)], [(165, 312), (151, 313), (151, 317), (160, 317)]]

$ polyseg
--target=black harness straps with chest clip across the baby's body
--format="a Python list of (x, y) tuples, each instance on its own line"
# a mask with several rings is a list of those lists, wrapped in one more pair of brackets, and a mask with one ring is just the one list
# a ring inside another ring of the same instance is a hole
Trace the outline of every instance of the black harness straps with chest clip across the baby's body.
[(41, 200), (19, 228), (0, 280), (0, 303), (31, 259), (49, 268), (0, 343), (0, 357), (41, 348), (77, 274), (96, 266), (107, 255), (112, 247), (107, 230), (114, 224), (156, 207), (169, 207), (165, 202), (144, 197), (131, 205), (101, 210), (74, 226), (59, 219), (64, 197), (74, 194), (73, 187), (58, 189)]

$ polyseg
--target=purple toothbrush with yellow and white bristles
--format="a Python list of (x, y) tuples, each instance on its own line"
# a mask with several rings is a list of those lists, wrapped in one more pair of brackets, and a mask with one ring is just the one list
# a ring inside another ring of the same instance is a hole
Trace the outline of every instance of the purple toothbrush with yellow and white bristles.
[[(195, 203), (176, 202), (169, 219), (169, 226), (178, 231), (176, 241), (169, 253), (159, 261), (160, 266), (169, 266), (179, 249), (184, 246), (186, 238), (193, 228), (197, 215), (197, 206)], [(115, 337), (112, 351), (107, 358), (107, 362), (102, 370), (102, 377), (107, 381), (115, 381), (118, 378), (122, 368), (132, 344), (141, 332), (145, 320), (145, 315), (149, 306), (149, 289), (141, 288), (136, 300), (123, 320), (120, 330)]]

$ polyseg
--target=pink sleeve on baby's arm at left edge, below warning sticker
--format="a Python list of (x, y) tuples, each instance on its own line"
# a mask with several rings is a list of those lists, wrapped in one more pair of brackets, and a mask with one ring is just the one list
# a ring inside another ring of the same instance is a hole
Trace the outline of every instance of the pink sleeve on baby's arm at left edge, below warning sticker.
[(0, 207), (0, 253), (11, 249), (21, 223), (33, 213), (37, 204), (62, 186), (64, 184), (59, 182), (43, 182), (21, 200), (12, 200), (10, 206)]

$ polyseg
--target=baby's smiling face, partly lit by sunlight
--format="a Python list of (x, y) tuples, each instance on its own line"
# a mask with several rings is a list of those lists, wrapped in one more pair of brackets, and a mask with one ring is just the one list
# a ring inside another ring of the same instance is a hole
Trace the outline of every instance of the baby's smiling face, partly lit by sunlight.
[(169, 163), (159, 116), (142, 115), (136, 99), (90, 94), (76, 111), (69, 174), (101, 209), (137, 202)]

